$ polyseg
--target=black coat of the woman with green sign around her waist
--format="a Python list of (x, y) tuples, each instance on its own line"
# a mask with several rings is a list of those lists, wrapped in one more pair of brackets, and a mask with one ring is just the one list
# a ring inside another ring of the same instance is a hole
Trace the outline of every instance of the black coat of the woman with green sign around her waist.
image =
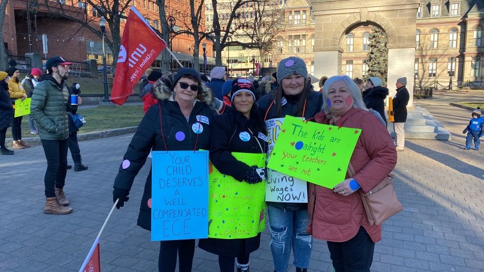
[[(249, 141), (240, 139), (241, 132), (254, 133)], [(243, 182), (251, 165), (238, 161), (232, 156), (232, 152), (241, 153), (266, 153), (267, 138), (258, 137), (259, 132), (265, 135), (265, 124), (259, 112), (251, 112), (251, 118), (247, 118), (236, 110), (228, 111), (216, 116), (210, 128), (210, 161), (226, 175), (231, 175), (239, 182)], [(257, 140), (259, 143), (257, 143)], [(259, 146), (260, 144), (260, 146)], [(261, 150), (261, 147), (263, 150)], [(237, 257), (240, 254), (249, 254), (256, 251), (260, 246), (260, 233), (250, 238), (239, 239), (200, 239), (198, 247), (217, 255)]]

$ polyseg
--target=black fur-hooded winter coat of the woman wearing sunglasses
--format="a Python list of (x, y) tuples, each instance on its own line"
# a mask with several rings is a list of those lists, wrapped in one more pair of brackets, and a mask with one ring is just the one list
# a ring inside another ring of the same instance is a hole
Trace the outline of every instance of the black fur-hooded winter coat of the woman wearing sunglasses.
[[(151, 149), (153, 151), (208, 149), (210, 140), (208, 125), (212, 120), (212, 111), (208, 106), (211, 101), (210, 90), (202, 87), (198, 91), (197, 100), (187, 123), (178, 102), (173, 101), (172, 81), (173, 76), (164, 77), (162, 80), (158, 80), (153, 87), (152, 94), (158, 99), (158, 103), (148, 109), (131, 139), (123, 157), (123, 161), (129, 161), (130, 165), (126, 169), (123, 169), (122, 165), (119, 167), (114, 188), (131, 190), (133, 180), (145, 164)], [(206, 116), (209, 123), (200, 123), (203, 126), (203, 131), (200, 134), (196, 134), (192, 130), (192, 125), (197, 123), (197, 115)], [(185, 134), (182, 141), (178, 141), (175, 137), (175, 134), (180, 131)], [(147, 230), (151, 230), (151, 208), (148, 207), (150, 198), (151, 169), (146, 178), (138, 217), (138, 226)]]

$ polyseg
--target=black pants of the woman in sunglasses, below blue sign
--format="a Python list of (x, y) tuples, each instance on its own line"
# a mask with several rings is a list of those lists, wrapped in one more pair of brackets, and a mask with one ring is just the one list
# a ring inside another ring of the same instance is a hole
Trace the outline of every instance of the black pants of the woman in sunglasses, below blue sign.
[(191, 272), (195, 239), (160, 241), (158, 256), (159, 272), (175, 272), (176, 254), (178, 252), (179, 272)]

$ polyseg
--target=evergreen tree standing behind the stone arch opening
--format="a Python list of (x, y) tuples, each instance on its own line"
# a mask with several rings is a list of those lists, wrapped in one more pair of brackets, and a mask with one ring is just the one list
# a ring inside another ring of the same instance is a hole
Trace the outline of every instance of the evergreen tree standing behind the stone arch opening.
[(377, 76), (382, 79), (383, 85), (386, 86), (388, 72), (387, 35), (380, 27), (373, 26), (369, 40), (368, 58), (364, 62), (368, 66), (366, 77)]

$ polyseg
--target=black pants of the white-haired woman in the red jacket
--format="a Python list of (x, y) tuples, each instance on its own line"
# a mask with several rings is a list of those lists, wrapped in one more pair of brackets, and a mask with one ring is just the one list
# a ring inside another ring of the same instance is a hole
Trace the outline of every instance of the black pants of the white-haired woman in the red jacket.
[(370, 272), (375, 243), (363, 227), (348, 241), (328, 241), (328, 249), (336, 272)]

